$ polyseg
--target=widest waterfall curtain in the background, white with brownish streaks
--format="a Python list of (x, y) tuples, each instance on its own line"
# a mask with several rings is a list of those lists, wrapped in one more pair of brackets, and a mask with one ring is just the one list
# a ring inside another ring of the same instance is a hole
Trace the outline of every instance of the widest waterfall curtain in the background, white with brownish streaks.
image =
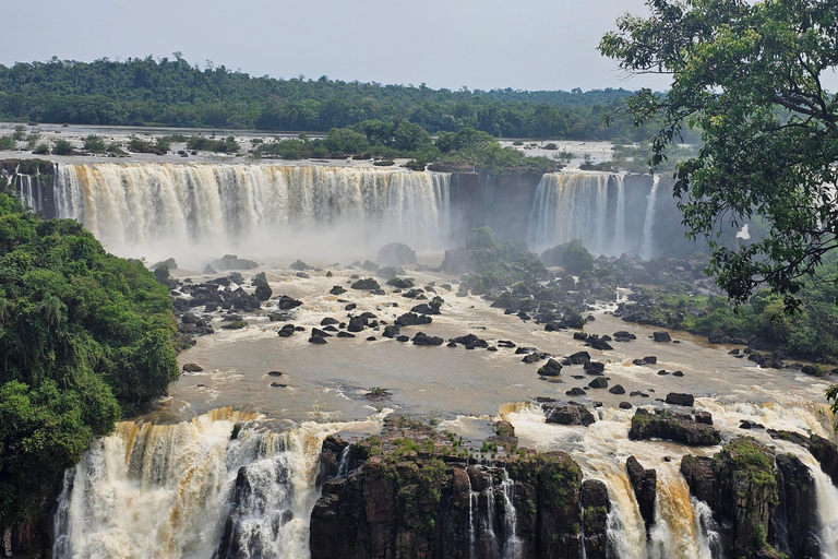
[(439, 250), (450, 229), (448, 174), (160, 163), (59, 165), (56, 178), (59, 217), (122, 254)]

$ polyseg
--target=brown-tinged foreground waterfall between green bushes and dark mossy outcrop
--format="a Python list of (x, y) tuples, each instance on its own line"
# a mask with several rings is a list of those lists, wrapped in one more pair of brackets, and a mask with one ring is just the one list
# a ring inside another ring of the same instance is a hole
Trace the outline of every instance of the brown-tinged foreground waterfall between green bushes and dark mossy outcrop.
[(347, 424), (273, 432), (258, 417), (119, 424), (68, 471), (52, 557), (307, 557), (320, 448)]

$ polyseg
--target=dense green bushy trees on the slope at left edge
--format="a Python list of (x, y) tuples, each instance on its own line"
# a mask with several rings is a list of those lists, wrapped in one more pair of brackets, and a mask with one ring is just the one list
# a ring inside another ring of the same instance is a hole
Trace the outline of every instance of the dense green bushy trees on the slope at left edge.
[(178, 376), (168, 290), (0, 178), (0, 527), (32, 519), (93, 437)]

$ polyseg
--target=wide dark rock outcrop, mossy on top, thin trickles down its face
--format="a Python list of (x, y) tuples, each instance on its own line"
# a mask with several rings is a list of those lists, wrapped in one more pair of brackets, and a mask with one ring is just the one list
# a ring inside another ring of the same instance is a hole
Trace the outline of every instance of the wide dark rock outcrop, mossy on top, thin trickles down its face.
[(345, 453), (347, 444), (323, 444), (312, 559), (490, 559), (513, 536), (520, 558), (580, 559), (583, 546), (606, 557), (608, 491), (583, 484), (566, 453), (468, 464), (448, 438), (404, 417)]

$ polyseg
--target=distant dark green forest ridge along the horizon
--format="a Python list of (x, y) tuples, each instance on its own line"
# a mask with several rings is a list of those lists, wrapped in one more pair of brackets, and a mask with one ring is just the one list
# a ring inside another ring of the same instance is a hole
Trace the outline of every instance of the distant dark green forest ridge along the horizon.
[(181, 57), (0, 64), (0, 120), (72, 124), (328, 131), (369, 120), (409, 121), (431, 133), (639, 139), (628, 121), (606, 128), (627, 90), (431, 90), (295, 78), (252, 78)]

